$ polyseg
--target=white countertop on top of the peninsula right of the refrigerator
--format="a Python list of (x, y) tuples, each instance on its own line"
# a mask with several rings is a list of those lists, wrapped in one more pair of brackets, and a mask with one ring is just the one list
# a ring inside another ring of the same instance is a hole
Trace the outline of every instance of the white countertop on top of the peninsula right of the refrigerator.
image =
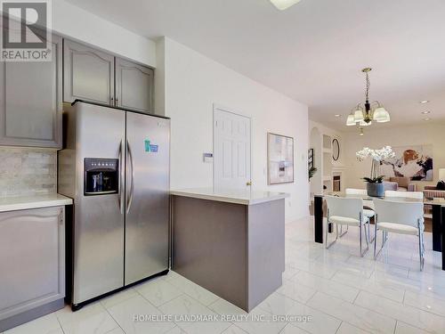
[(213, 188), (193, 188), (170, 191), (172, 195), (191, 197), (200, 200), (217, 200), (227, 203), (254, 205), (271, 200), (283, 200), (289, 197), (286, 192), (272, 191), (237, 191), (214, 190)]

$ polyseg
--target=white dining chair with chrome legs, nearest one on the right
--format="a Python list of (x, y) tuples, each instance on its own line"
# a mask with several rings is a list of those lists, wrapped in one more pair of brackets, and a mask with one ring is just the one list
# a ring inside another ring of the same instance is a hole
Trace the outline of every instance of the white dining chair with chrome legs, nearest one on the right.
[[(415, 235), (418, 237), (420, 271), (424, 270), (425, 246), (424, 246), (424, 203), (401, 202), (394, 200), (375, 199), (376, 225), (374, 239), (374, 259), (378, 257), (384, 248), (388, 233)], [(377, 232), (382, 231), (382, 247), (376, 252)]]

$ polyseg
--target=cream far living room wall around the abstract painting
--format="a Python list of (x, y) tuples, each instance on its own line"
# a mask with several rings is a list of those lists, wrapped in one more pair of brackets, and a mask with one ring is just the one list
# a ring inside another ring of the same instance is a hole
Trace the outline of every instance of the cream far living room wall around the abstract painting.
[(363, 188), (360, 177), (368, 176), (370, 172), (370, 159), (360, 162), (355, 152), (367, 146), (379, 149), (385, 145), (406, 146), (419, 144), (433, 144), (433, 182), (417, 183), (417, 189), (422, 190), (427, 184), (436, 184), (439, 177), (439, 168), (445, 167), (445, 132), (442, 124), (417, 124), (415, 126), (365, 128), (365, 135), (358, 133), (344, 134), (345, 161), (347, 165), (346, 185), (352, 188)]

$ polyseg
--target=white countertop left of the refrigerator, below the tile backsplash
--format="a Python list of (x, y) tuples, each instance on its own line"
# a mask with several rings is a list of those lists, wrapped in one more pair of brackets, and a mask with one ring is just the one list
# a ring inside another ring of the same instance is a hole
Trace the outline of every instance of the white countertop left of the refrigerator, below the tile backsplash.
[(58, 193), (36, 196), (9, 196), (0, 198), (0, 212), (26, 210), (28, 208), (49, 208), (73, 204), (73, 200)]

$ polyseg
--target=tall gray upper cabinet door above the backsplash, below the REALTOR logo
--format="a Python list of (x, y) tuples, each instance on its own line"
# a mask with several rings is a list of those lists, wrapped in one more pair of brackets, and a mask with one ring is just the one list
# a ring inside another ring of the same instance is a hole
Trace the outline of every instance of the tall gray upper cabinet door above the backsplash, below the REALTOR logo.
[(52, 61), (0, 62), (0, 145), (61, 148), (61, 37), (52, 42)]

